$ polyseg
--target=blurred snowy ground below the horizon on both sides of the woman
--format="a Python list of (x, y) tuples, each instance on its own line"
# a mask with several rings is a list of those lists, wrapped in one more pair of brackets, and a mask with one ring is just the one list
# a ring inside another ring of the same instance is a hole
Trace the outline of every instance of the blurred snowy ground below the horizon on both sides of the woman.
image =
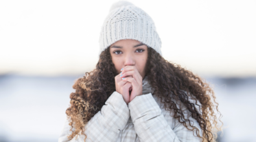
[[(0, 76), (0, 141), (58, 141), (72, 85), (82, 76)], [(256, 77), (205, 79), (227, 127), (220, 141), (256, 141)]]

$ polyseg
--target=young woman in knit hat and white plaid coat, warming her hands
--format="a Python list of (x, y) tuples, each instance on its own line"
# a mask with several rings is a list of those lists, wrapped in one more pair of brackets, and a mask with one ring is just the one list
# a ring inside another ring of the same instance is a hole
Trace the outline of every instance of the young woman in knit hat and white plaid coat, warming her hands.
[(222, 126), (213, 90), (161, 56), (154, 22), (141, 8), (113, 4), (100, 48), (96, 69), (73, 85), (59, 142), (216, 141)]

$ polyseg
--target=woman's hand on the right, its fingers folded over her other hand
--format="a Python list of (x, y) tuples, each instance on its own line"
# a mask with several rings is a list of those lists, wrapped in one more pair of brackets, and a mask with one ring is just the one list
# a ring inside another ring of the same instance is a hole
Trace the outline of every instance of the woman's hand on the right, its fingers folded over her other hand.
[[(130, 94), (130, 100), (129, 103), (136, 97), (142, 95), (142, 80), (141, 74), (139, 74), (139, 71), (135, 66), (125, 66), (123, 70), (121, 70), (120, 78), (124, 83), (128, 81), (129, 83), (132, 83), (132, 92)], [(132, 76), (132, 77), (129, 77)]]

